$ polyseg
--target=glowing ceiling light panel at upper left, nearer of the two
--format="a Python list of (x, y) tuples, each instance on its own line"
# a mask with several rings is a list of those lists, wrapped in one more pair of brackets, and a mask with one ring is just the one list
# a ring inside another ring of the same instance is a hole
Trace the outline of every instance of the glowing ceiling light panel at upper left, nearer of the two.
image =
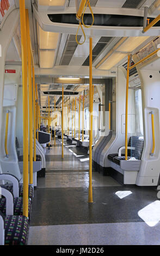
[(39, 26), (39, 48), (56, 49), (59, 39), (59, 33), (43, 31)]

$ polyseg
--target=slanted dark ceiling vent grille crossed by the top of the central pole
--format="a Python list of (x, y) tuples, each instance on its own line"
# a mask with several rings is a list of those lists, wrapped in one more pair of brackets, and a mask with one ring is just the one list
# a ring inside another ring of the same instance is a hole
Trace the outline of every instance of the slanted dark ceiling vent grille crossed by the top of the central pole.
[[(100, 40), (97, 42), (95, 47), (93, 48), (92, 54), (93, 54), (93, 61), (96, 59), (97, 56), (104, 50), (104, 48), (109, 44), (109, 42), (112, 40), (112, 37), (109, 36), (102, 36)], [(82, 66), (89, 66), (89, 56), (87, 59), (85, 59)]]

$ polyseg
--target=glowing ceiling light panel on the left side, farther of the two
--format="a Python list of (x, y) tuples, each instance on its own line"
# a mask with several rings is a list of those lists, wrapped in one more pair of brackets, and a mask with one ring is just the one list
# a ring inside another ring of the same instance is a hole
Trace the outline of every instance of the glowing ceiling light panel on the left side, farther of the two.
[(40, 68), (52, 69), (54, 63), (55, 51), (40, 50)]

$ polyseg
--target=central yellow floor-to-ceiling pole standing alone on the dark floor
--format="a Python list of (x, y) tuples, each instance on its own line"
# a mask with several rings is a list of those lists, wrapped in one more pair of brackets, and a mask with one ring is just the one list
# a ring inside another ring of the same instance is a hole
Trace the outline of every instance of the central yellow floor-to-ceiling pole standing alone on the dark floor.
[(89, 193), (88, 202), (93, 203), (93, 190), (92, 190), (92, 143), (93, 143), (93, 87), (92, 87), (92, 38), (89, 38)]

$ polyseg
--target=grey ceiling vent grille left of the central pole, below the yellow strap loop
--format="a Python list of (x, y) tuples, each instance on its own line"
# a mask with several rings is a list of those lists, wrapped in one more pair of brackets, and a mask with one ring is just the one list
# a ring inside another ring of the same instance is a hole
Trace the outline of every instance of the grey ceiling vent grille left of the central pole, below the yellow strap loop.
[[(77, 35), (77, 40), (81, 39), (82, 35)], [(61, 56), (59, 65), (69, 65), (73, 54), (77, 48), (76, 35), (69, 35), (64, 47), (63, 54)]]

